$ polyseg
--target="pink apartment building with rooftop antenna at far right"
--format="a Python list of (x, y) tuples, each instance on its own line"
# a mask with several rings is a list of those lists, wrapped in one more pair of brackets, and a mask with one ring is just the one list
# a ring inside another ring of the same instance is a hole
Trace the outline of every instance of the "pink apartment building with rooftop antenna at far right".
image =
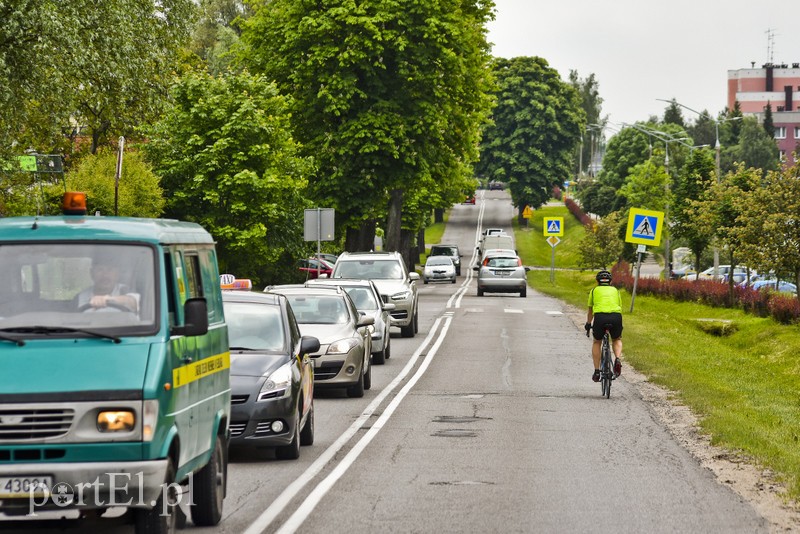
[(755, 115), (759, 122), (770, 104), (781, 157), (794, 163), (793, 153), (800, 144), (800, 63), (766, 63), (761, 68), (753, 64), (749, 69), (729, 70), (728, 109), (733, 109), (736, 101), (744, 115)]

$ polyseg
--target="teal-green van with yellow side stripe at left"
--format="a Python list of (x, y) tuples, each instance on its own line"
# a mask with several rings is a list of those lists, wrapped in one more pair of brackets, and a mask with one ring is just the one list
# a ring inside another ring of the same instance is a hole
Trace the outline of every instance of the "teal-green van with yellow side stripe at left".
[(124, 506), (137, 532), (166, 532), (188, 496), (194, 524), (217, 524), (229, 368), (214, 241), (200, 226), (0, 218), (4, 515)]

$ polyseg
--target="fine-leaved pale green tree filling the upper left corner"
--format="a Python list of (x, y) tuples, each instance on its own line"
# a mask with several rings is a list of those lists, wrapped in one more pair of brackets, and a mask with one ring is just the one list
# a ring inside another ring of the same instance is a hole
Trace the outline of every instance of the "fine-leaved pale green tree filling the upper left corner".
[(0, 150), (90, 150), (160, 112), (192, 0), (0, 3)]

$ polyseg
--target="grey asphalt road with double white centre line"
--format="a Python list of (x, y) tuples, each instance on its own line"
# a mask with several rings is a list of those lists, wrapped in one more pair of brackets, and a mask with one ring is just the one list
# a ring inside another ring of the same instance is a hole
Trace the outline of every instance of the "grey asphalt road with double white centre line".
[(503, 191), (455, 206), (443, 242), (463, 250), (462, 276), (420, 286), (420, 333), (393, 336), (363, 399), (318, 394), (316, 440), (299, 460), (233, 454), (222, 523), (191, 531), (768, 532), (624, 369), (601, 398), (589, 341), (560, 301), (477, 296), (476, 237), (513, 215)]

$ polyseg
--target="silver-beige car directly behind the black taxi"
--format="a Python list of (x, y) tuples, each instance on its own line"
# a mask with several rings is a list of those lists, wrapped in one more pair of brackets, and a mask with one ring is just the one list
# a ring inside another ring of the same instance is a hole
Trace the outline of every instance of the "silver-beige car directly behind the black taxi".
[(371, 316), (358, 313), (340, 287), (322, 285), (269, 286), (265, 291), (286, 295), (300, 332), (319, 339), (314, 361), (316, 388), (346, 388), (348, 397), (363, 397), (372, 387)]

